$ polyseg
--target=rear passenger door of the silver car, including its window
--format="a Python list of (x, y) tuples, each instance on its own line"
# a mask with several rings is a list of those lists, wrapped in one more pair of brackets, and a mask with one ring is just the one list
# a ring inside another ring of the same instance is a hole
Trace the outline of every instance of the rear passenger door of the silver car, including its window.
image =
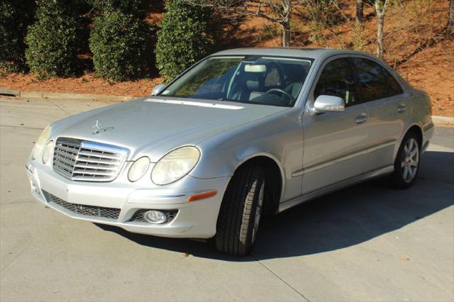
[(408, 96), (396, 79), (379, 62), (352, 57), (360, 99), (367, 106), (367, 161), (365, 172), (388, 167), (408, 117)]

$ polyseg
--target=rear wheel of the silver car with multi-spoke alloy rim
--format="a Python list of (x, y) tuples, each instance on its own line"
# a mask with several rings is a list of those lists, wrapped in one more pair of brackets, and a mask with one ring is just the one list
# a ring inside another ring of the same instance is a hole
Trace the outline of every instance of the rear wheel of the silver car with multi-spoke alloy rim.
[(409, 188), (419, 172), (419, 155), (421, 142), (415, 133), (407, 133), (397, 152), (394, 162), (394, 173), (391, 176), (392, 185), (398, 189)]

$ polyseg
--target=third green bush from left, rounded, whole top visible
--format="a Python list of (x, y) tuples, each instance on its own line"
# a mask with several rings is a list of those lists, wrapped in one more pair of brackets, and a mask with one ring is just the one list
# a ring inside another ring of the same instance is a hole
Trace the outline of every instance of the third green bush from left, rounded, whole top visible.
[(148, 74), (152, 50), (151, 28), (145, 21), (120, 9), (106, 9), (94, 19), (90, 34), (94, 69), (114, 81)]

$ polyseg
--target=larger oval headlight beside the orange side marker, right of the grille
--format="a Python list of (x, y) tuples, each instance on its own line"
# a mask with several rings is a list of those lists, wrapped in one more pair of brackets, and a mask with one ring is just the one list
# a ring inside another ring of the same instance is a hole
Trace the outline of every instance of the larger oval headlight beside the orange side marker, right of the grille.
[(180, 147), (162, 157), (151, 172), (151, 180), (155, 184), (171, 184), (182, 179), (191, 172), (200, 159), (200, 151), (196, 147)]

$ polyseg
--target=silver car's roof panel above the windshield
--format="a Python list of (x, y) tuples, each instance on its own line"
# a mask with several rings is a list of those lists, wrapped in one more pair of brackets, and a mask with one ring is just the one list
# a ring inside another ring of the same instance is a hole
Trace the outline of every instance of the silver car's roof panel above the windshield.
[(329, 57), (331, 55), (367, 55), (365, 52), (353, 50), (337, 50), (333, 48), (312, 48), (312, 47), (275, 47), (275, 48), (236, 48), (233, 50), (223, 50), (213, 55), (277, 55), (282, 57), (306, 57), (317, 59), (319, 57)]

